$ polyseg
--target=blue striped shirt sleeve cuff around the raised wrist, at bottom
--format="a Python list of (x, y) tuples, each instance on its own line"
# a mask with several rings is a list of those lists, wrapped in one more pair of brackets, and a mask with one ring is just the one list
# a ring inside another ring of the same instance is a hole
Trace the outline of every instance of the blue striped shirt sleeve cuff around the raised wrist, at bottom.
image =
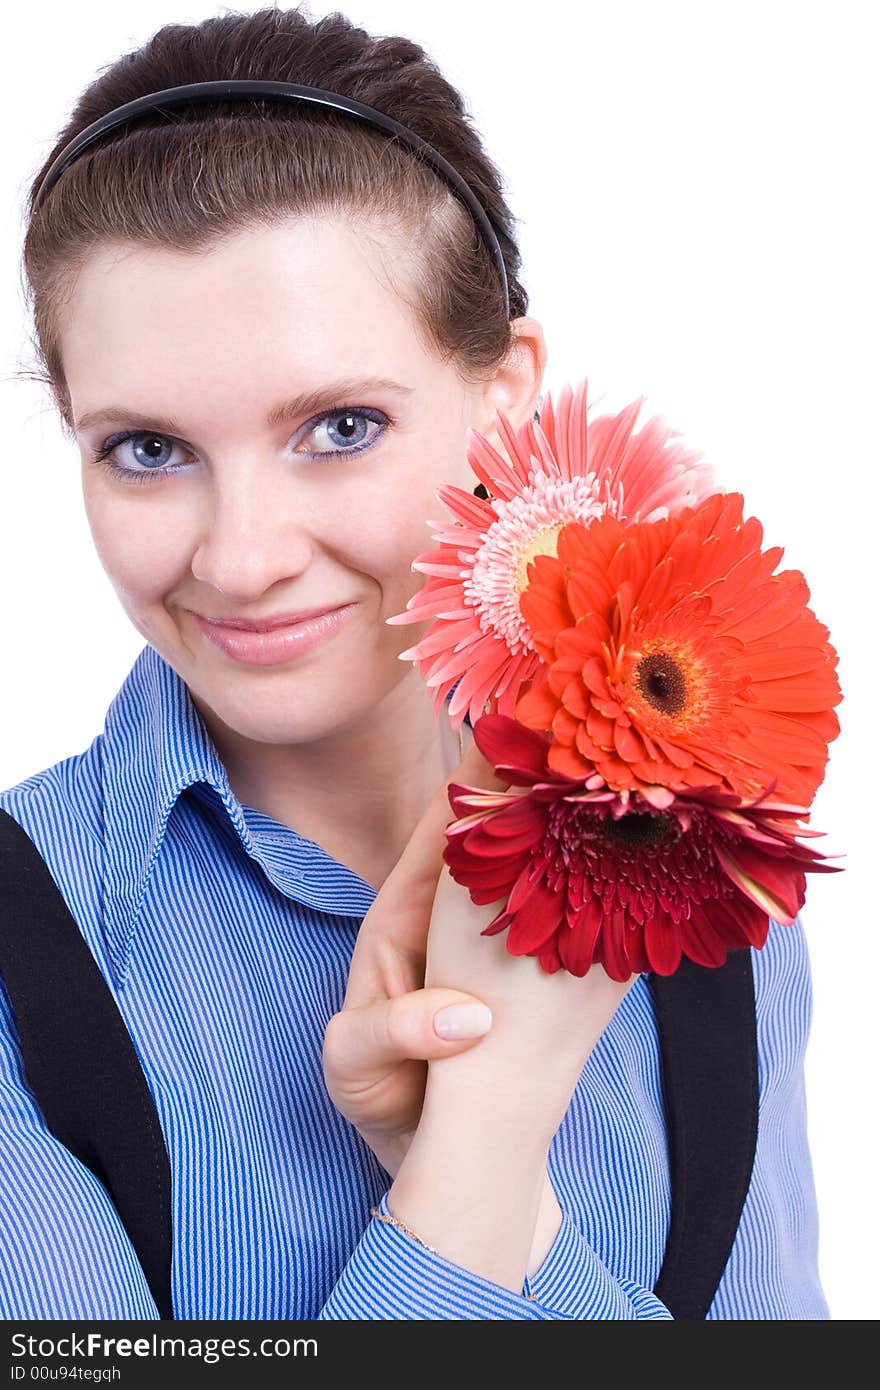
[[(388, 1193), (377, 1211), (388, 1215)], [(616, 1279), (570, 1216), (521, 1293), (437, 1255), (373, 1216), (320, 1319), (670, 1319), (649, 1289)]]

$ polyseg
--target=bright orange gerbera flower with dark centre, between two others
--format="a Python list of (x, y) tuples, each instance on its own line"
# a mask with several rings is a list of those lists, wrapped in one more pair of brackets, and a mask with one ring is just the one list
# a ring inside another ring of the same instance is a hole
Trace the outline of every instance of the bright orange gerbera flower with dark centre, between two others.
[(516, 717), (555, 773), (614, 790), (716, 785), (809, 806), (840, 733), (837, 653), (798, 570), (774, 574), (740, 493), (559, 532), (520, 603), (546, 670)]

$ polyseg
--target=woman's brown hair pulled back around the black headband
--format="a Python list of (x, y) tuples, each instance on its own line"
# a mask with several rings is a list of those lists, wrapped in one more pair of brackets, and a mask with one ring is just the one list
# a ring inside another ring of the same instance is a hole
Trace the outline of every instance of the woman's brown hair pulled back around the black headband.
[(25, 375), (50, 386), (63, 425), (72, 432), (58, 311), (89, 250), (139, 242), (195, 253), (295, 214), (356, 213), (359, 234), (368, 235), (364, 221), (403, 232), (409, 284), (393, 289), (424, 341), (466, 379), (496, 368), (512, 348), (510, 320), (471, 214), (406, 146), (325, 107), (239, 101), (184, 107), (174, 120), (149, 113), (82, 153), (35, 207), (46, 170), (89, 122), (149, 92), (224, 78), (321, 86), (416, 131), (482, 203), (505, 257), (510, 318), (527, 311), (500, 175), (462, 96), (417, 43), (374, 38), (338, 11), (317, 21), (302, 8), (266, 8), (170, 24), (86, 88), (31, 185), (22, 271), (38, 366)]

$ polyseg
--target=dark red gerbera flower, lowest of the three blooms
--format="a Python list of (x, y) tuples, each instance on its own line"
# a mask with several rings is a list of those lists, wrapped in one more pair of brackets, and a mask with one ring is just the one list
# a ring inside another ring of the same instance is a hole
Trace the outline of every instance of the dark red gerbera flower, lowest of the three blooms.
[(443, 859), (475, 903), (505, 898), (484, 929), (507, 929), (512, 955), (613, 980), (671, 974), (685, 955), (719, 966), (728, 949), (763, 945), (770, 916), (791, 924), (805, 872), (838, 872), (798, 844), (804, 810), (744, 803), (713, 788), (612, 791), (555, 776), (545, 735), (485, 714), (474, 739), (499, 777), (525, 792), (449, 785), (457, 820)]

